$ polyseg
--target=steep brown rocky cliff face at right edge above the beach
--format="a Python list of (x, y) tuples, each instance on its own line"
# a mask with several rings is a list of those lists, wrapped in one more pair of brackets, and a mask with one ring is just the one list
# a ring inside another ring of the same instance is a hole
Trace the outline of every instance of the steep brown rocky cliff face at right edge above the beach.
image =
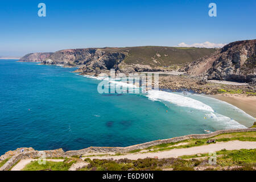
[(255, 79), (256, 39), (229, 43), (220, 50), (187, 65), (190, 75), (208, 79), (246, 81)]

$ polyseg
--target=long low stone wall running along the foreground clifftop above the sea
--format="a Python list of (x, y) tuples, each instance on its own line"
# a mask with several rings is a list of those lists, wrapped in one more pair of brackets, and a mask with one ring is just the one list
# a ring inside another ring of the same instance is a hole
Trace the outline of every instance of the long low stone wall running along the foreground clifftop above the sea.
[[(162, 143), (171, 143), (171, 142), (180, 142), (187, 139), (205, 139), (211, 138), (216, 135), (225, 134), (225, 133), (238, 133), (238, 132), (248, 132), (248, 131), (256, 131), (256, 128), (251, 129), (231, 129), (231, 130), (218, 130), (213, 133), (209, 134), (192, 134), (192, 135), (185, 135), (182, 137), (175, 137), (170, 139), (163, 139), (163, 140), (154, 140), (151, 142), (135, 144), (133, 146), (128, 147), (88, 147), (82, 150), (74, 150), (74, 151), (67, 151), (64, 152), (61, 148), (57, 150), (49, 150), (49, 151), (25, 151), (19, 152), (18, 154), (13, 155), (8, 162), (6, 162), (1, 168), (0, 171), (7, 171), (9, 170), (15, 163), (22, 159), (35, 159), (40, 158), (42, 156), (42, 152), (45, 152), (46, 158), (59, 158), (59, 157), (68, 157), (73, 155), (83, 155), (86, 152), (128, 152), (132, 150), (138, 150), (147, 148), (150, 146), (155, 146), (157, 144)], [(3, 156), (3, 155), (2, 155)], [(1, 156), (1, 157), (2, 157)], [(1, 160), (0, 160), (1, 161)]]

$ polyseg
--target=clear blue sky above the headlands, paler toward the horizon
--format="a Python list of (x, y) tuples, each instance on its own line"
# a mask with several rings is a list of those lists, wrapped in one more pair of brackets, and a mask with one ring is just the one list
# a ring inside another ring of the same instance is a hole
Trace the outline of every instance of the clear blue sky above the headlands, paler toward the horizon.
[[(46, 17), (38, 4), (46, 4)], [(210, 17), (209, 3), (217, 17)], [(255, 0), (0, 1), (0, 55), (256, 38)], [(183, 45), (184, 45), (183, 44)]]

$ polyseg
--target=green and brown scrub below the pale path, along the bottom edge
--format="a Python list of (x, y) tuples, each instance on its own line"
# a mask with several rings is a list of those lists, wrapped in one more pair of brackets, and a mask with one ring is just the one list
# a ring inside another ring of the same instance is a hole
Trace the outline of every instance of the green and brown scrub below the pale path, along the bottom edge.
[[(168, 158), (168, 159), (119, 159), (119, 160), (106, 160), (106, 159), (85, 159), (90, 163), (87, 167), (82, 168), (81, 171), (141, 171), (141, 170), (163, 170), (172, 168), (175, 171), (193, 171), (195, 167), (201, 167), (204, 170), (223, 170), (225, 167), (232, 167), (232, 170), (251, 170), (256, 164), (256, 150), (221, 150), (217, 151), (216, 165), (211, 166), (208, 163), (209, 155), (201, 154), (199, 156), (181, 156), (181, 158)], [(204, 157), (204, 158), (202, 158)]]

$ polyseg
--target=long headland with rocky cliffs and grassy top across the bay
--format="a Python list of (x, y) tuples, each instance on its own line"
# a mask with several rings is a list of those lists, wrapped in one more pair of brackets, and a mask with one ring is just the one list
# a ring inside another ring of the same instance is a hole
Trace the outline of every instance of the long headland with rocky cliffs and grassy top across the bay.
[(216, 49), (156, 46), (65, 49), (53, 53), (42, 63), (79, 66), (76, 72), (86, 75), (97, 75), (110, 69), (124, 73), (164, 71), (214, 51)]

